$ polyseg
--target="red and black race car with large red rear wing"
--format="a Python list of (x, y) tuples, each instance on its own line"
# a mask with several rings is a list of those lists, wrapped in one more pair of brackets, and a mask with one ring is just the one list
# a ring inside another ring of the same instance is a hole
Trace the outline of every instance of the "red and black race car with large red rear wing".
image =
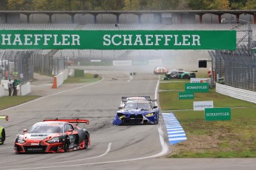
[(16, 136), (14, 152), (55, 153), (87, 149), (91, 145), (90, 134), (86, 129), (80, 129), (77, 123), (89, 124), (89, 120), (55, 119), (35, 123)]

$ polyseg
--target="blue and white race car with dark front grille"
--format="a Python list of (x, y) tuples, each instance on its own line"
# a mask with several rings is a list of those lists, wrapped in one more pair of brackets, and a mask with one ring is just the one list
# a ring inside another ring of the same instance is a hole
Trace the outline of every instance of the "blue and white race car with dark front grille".
[(157, 106), (152, 106), (151, 101), (126, 101), (125, 106), (118, 108), (120, 110), (116, 112), (116, 116), (112, 120), (113, 125), (158, 123), (159, 109)]

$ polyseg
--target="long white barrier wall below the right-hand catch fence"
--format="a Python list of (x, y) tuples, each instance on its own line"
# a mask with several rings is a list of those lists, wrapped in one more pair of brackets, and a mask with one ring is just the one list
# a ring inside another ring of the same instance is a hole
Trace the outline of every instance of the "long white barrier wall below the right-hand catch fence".
[(243, 101), (256, 103), (256, 92), (216, 83), (216, 92)]

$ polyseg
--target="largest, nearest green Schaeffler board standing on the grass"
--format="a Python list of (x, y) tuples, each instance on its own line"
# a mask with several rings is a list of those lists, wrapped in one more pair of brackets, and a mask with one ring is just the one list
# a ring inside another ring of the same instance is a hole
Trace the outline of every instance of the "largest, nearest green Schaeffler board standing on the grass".
[(208, 108), (205, 109), (205, 120), (231, 120), (230, 108)]

